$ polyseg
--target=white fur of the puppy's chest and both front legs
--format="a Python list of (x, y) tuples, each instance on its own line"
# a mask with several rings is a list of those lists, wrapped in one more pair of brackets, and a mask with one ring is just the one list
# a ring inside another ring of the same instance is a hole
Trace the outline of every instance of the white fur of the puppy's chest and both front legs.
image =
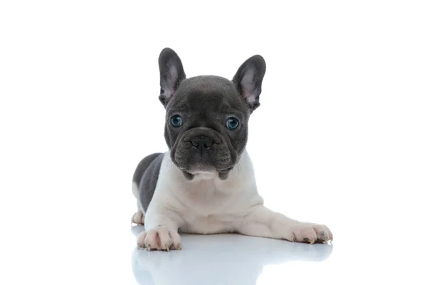
[[(146, 232), (139, 235), (137, 242), (139, 247), (148, 249), (176, 248), (178, 231), (240, 232), (292, 242), (315, 242), (320, 236), (325, 241), (332, 239), (325, 226), (297, 222), (263, 206), (246, 150), (226, 180), (210, 172), (187, 180), (167, 152), (144, 222)], [(153, 237), (159, 237), (159, 242), (154, 242)]]

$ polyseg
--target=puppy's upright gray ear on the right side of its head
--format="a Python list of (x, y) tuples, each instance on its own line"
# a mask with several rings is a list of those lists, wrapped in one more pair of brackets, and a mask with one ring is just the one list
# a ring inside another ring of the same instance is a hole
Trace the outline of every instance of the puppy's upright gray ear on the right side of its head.
[(265, 61), (262, 56), (248, 58), (233, 77), (238, 92), (249, 104), (251, 112), (260, 105), (261, 85), (265, 74)]

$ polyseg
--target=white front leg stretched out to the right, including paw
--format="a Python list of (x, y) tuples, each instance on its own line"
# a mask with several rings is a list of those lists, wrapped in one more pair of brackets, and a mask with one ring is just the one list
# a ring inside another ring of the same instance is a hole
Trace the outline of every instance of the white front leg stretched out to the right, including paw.
[(286, 239), (290, 242), (332, 241), (332, 232), (322, 224), (298, 222), (283, 214), (273, 212), (263, 205), (250, 209), (238, 224), (238, 232), (254, 237)]

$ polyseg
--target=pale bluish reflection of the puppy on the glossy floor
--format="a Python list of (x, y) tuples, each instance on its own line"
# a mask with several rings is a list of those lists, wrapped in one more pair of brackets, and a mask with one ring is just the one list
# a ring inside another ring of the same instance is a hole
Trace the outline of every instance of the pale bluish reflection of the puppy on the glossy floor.
[[(144, 227), (132, 227), (137, 236)], [(332, 244), (301, 244), (240, 234), (181, 234), (182, 250), (135, 248), (132, 271), (139, 284), (256, 284), (263, 266), (288, 261), (323, 261)]]

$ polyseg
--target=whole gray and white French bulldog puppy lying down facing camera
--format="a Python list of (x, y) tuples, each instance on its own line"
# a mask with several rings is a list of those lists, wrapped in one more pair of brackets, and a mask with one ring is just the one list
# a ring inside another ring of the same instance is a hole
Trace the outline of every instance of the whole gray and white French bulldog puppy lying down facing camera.
[(260, 105), (262, 56), (248, 58), (231, 81), (186, 78), (179, 56), (164, 48), (159, 70), (169, 151), (145, 157), (133, 175), (138, 211), (132, 222), (145, 226), (138, 248), (181, 249), (179, 232), (332, 241), (325, 225), (273, 212), (258, 194), (246, 142), (249, 117)]

